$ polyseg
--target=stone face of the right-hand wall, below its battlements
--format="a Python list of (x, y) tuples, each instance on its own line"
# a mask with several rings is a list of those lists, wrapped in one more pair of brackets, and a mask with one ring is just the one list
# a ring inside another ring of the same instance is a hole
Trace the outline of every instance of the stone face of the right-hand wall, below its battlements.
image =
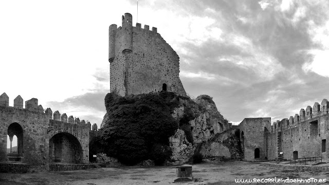
[[(322, 152), (322, 140), (328, 141), (328, 114), (313, 116), (303, 122), (286, 125), (280, 121), (280, 127), (271, 133), (271, 136), (281, 135), (278, 138), (278, 152), (283, 152), (285, 159), (293, 159), (294, 152), (298, 153), (299, 158), (319, 157), (328, 158), (328, 145), (325, 142), (325, 149)], [(281, 150), (280, 150), (281, 149)], [(270, 156), (274, 159), (275, 156)]]

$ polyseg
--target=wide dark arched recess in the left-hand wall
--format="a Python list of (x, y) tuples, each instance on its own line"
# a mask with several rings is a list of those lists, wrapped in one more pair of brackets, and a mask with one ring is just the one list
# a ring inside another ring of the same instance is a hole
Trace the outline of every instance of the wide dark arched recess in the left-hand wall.
[(58, 133), (49, 140), (49, 162), (83, 163), (79, 140), (69, 133)]

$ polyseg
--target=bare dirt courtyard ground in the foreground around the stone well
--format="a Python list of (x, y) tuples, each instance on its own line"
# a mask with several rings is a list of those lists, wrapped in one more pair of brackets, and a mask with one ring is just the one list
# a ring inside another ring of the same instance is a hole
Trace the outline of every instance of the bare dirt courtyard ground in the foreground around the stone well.
[[(329, 172), (297, 172), (265, 167), (260, 162), (228, 161), (203, 162), (192, 165), (193, 182), (184, 184), (237, 184), (235, 179), (283, 178), (327, 179)], [(120, 167), (100, 168), (65, 172), (39, 172), (27, 174), (0, 173), (1, 185), (107, 185), (107, 184), (177, 184), (175, 167)], [(242, 183), (240, 183), (242, 184)], [(243, 184), (285, 184), (285, 183), (243, 183)], [(290, 183), (323, 184), (323, 183)]]

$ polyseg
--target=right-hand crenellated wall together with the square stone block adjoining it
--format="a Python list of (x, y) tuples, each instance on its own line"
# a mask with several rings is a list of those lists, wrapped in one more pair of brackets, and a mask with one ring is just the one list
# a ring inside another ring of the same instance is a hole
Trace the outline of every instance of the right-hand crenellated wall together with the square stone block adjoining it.
[[(301, 109), (300, 114), (290, 116), (271, 126), (261, 120), (270, 118), (246, 118), (240, 123), (240, 139), (244, 143), (245, 159), (253, 160), (254, 149), (259, 147), (260, 158), (278, 157), (297, 159), (322, 157), (328, 159), (329, 102), (323, 99), (313, 107)], [(242, 133), (244, 132), (244, 133)]]

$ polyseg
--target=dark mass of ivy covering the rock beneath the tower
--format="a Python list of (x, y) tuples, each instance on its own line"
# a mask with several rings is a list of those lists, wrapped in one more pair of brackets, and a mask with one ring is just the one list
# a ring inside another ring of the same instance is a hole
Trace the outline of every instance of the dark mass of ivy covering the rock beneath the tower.
[(109, 119), (100, 130), (95, 150), (124, 164), (147, 159), (162, 164), (172, 155), (168, 138), (178, 128), (178, 122), (171, 116), (178, 104), (177, 97), (161, 93), (126, 97), (107, 94), (105, 107)]

